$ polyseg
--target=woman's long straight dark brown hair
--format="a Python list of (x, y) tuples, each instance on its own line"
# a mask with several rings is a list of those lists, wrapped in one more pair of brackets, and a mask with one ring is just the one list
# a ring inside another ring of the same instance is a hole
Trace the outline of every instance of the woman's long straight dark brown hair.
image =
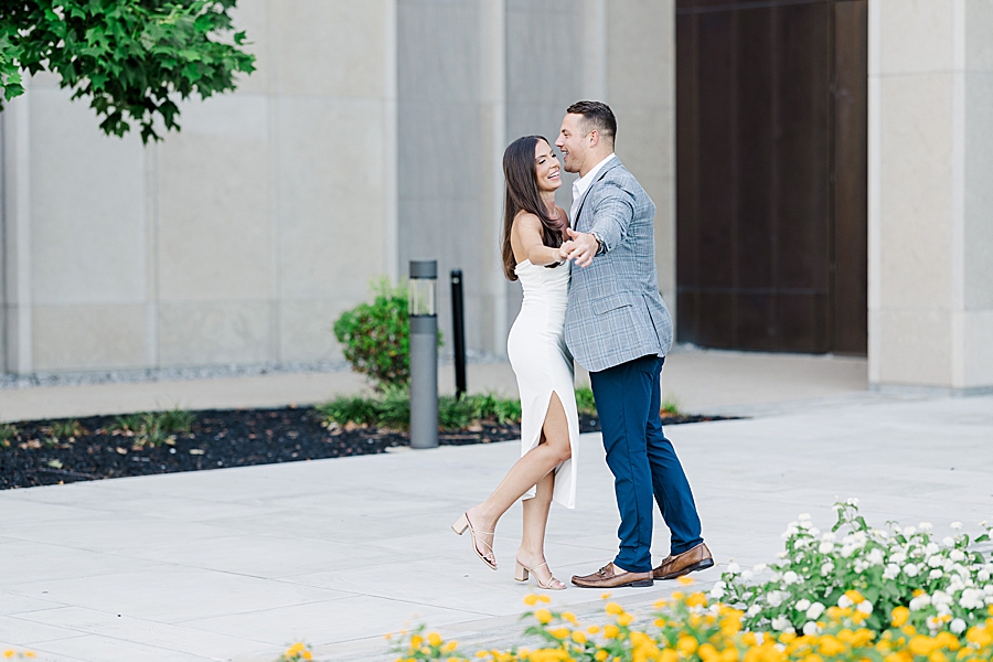
[(510, 235), (514, 218), (521, 211), (534, 214), (541, 220), (542, 242), (545, 246), (552, 248), (562, 246), (565, 222), (557, 215), (554, 217), (549, 215), (537, 188), (534, 148), (538, 140), (552, 145), (543, 136), (524, 136), (511, 142), (503, 152), (503, 179), (506, 182), (503, 194), (503, 273), (508, 280), (517, 279), (517, 275), (514, 274), (517, 263), (511, 247)]

